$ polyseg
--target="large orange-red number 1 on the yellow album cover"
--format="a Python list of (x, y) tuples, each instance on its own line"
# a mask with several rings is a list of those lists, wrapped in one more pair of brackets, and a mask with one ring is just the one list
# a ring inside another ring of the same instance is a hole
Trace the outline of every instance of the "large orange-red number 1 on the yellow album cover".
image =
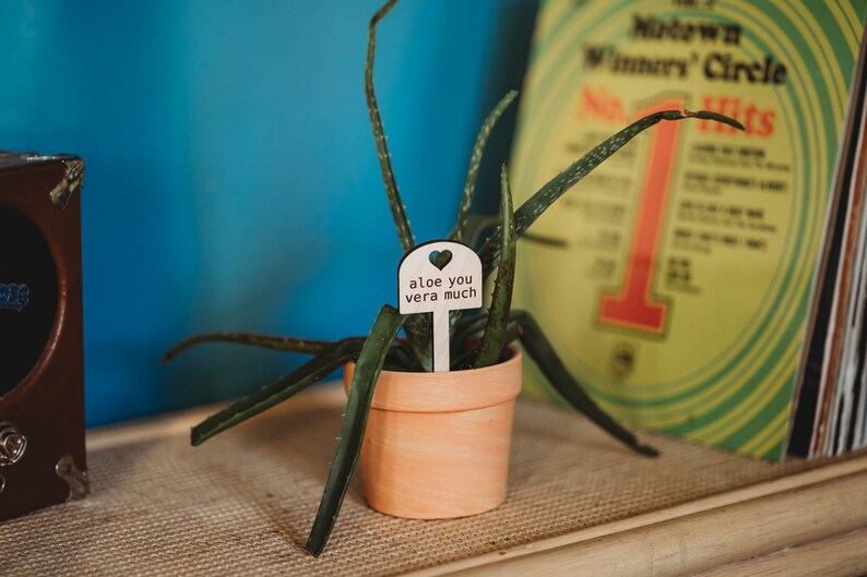
[[(682, 100), (665, 99), (639, 110), (638, 116), (643, 117), (660, 110), (682, 107)], [(655, 335), (661, 335), (665, 330), (669, 303), (654, 300), (651, 287), (680, 124), (680, 122), (661, 122), (652, 129), (644, 183), (623, 273), (623, 284), (618, 292), (603, 293), (598, 316), (602, 324)]]

